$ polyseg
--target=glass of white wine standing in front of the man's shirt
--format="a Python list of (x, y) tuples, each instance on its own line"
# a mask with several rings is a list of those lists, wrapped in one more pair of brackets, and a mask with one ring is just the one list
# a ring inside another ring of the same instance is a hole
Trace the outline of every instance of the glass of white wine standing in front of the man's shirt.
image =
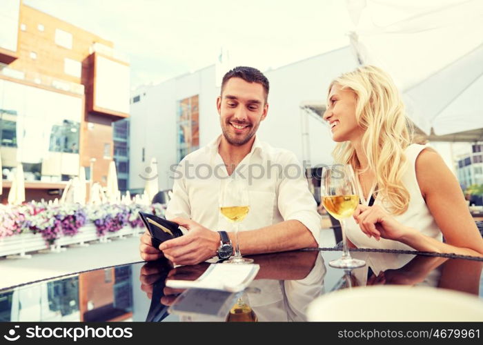
[(248, 215), (250, 204), (248, 201), (248, 185), (241, 179), (230, 178), (224, 188), (221, 188), (219, 210), (222, 215), (234, 224), (235, 255), (226, 260), (228, 264), (250, 264), (253, 259), (242, 257), (238, 241), (239, 225)]

